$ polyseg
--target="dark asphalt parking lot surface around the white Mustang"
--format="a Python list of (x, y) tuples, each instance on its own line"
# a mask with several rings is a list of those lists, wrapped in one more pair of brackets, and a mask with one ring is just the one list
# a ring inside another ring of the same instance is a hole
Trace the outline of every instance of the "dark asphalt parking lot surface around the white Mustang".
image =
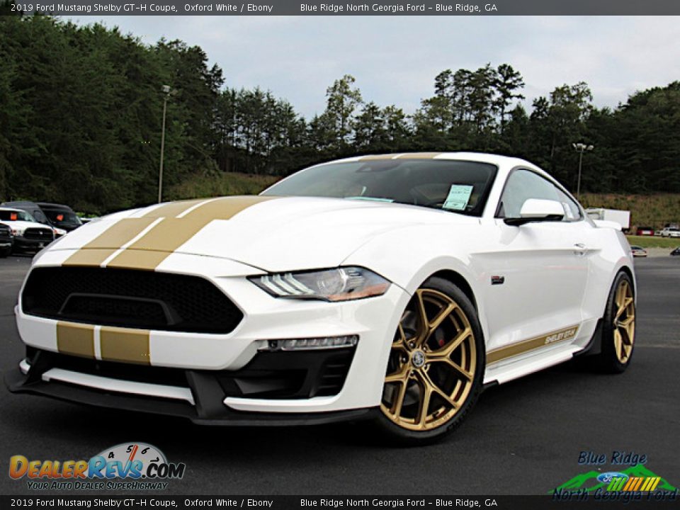
[[(13, 307), (29, 263), (0, 259), (4, 371), (15, 370), (23, 355)], [(31, 493), (25, 481), (8, 477), (11, 455), (90, 458), (128, 441), (151, 443), (186, 463), (183, 480), (166, 494), (545, 494), (591, 469), (578, 465), (581, 451), (613, 450), (646, 455), (646, 466), (677, 487), (680, 257), (636, 266), (638, 336), (628, 372), (598, 375), (561, 365), (494, 387), (442, 443), (393, 448), (358, 424), (200, 427), (11, 395), (2, 385), (0, 493)]]

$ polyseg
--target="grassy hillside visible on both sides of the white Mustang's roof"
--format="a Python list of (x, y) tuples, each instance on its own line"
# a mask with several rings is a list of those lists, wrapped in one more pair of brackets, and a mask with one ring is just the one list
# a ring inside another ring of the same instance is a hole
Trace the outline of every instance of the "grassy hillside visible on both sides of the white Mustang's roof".
[[(278, 181), (278, 176), (227, 172), (212, 176), (196, 175), (166, 192), (167, 200), (221, 195), (254, 195)], [(630, 225), (661, 229), (666, 223), (680, 222), (680, 194), (581, 196), (584, 207), (630, 210)]]

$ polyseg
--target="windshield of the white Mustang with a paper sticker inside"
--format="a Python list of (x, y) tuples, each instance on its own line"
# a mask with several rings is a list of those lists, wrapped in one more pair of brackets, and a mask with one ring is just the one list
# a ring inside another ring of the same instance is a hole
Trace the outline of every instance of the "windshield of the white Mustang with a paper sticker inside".
[(312, 166), (262, 195), (378, 200), (481, 216), (496, 171), (448, 159), (367, 159)]

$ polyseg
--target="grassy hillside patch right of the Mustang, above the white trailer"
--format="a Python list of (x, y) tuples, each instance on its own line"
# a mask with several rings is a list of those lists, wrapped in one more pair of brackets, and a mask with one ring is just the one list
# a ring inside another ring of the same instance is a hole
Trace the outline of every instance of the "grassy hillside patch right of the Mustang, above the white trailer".
[(581, 196), (584, 207), (623, 209), (630, 211), (630, 226), (662, 229), (667, 223), (680, 222), (680, 194), (595, 195)]

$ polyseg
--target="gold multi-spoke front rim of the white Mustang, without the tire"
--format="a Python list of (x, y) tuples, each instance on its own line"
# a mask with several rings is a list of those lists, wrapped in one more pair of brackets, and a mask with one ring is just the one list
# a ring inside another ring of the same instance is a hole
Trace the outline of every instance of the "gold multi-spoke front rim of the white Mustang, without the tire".
[(435, 429), (463, 407), (476, 370), (465, 312), (438, 290), (416, 290), (392, 342), (380, 409), (404, 429)]

